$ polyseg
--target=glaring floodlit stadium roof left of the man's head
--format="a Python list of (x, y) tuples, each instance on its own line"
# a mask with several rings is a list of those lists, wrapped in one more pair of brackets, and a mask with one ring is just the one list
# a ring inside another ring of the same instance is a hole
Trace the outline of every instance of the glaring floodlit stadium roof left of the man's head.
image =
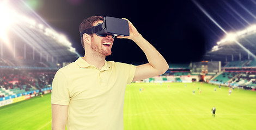
[(52, 29), (23, 1), (3, 1), (0, 8), (0, 30), (5, 30), (0, 32), (0, 41), (4, 44), (27, 44), (42, 57), (60, 62), (74, 61), (80, 56), (65, 35)]

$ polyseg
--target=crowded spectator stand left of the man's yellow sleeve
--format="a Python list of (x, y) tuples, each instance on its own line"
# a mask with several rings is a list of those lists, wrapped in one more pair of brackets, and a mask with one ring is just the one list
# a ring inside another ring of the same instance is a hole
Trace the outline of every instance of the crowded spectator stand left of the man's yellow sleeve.
[(10, 96), (51, 87), (56, 70), (0, 70), (2, 96)]

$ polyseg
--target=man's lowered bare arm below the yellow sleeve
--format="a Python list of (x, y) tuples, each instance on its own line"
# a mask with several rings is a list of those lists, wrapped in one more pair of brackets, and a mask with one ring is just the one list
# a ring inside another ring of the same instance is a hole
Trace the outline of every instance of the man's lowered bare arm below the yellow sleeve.
[(65, 130), (68, 106), (52, 104), (52, 130)]

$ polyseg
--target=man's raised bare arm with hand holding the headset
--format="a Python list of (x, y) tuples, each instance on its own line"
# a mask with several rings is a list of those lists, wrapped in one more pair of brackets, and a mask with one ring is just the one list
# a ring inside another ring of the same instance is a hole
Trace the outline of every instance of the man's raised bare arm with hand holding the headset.
[[(125, 19), (125, 18), (123, 18)], [(128, 21), (128, 19), (126, 19)], [(169, 66), (163, 56), (147, 40), (145, 40), (137, 29), (129, 22), (130, 36), (118, 36), (117, 38), (128, 38), (133, 40), (147, 56), (148, 62), (137, 66), (132, 81), (139, 81), (149, 77), (158, 76), (166, 72)]]

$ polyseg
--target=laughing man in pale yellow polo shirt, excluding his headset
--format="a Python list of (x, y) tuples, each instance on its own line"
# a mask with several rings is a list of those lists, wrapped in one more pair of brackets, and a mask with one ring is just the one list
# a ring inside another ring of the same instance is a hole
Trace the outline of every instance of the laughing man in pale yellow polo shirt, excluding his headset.
[[(80, 32), (102, 22), (100, 16), (84, 19)], [(129, 29), (130, 36), (117, 38), (133, 40), (144, 51), (149, 63), (133, 66), (106, 62), (106, 56), (112, 53), (113, 37), (83, 34), (84, 57), (59, 69), (53, 80), (52, 129), (65, 129), (66, 124), (68, 129), (124, 129), (126, 84), (161, 75), (169, 68), (162, 55), (131, 22)]]

